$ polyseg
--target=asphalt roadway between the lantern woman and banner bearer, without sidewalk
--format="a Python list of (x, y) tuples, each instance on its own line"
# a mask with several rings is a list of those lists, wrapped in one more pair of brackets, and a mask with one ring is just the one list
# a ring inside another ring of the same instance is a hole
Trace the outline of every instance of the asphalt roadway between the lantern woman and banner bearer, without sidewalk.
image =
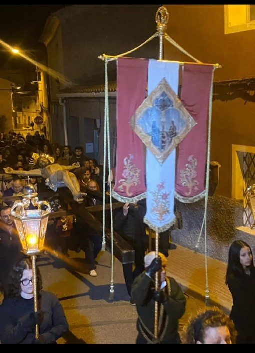
[[(70, 258), (59, 259), (50, 254), (38, 256), (38, 266), (43, 277), (43, 287), (60, 298), (69, 329), (59, 344), (134, 344), (136, 308), (129, 304), (122, 265), (114, 261), (114, 298), (110, 300), (110, 254), (101, 252), (98, 257), (97, 277), (84, 273), (84, 253), (70, 251)], [(64, 261), (65, 260), (65, 261)], [(180, 320), (180, 335), (191, 312), (205, 304), (186, 296), (186, 313)]]

